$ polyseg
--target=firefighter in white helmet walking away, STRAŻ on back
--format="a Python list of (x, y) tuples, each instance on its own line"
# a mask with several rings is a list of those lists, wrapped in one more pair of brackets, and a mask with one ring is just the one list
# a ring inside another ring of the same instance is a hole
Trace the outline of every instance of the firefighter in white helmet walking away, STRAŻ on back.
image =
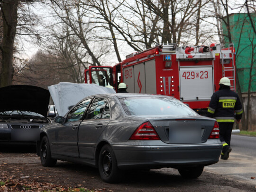
[(238, 94), (230, 90), (229, 78), (221, 78), (219, 86), (219, 91), (213, 93), (211, 97), (207, 116), (215, 118), (219, 123), (219, 140), (223, 145), (220, 158), (227, 160), (232, 150), (230, 148), (232, 128), (235, 119), (237, 123), (241, 122), (243, 109)]

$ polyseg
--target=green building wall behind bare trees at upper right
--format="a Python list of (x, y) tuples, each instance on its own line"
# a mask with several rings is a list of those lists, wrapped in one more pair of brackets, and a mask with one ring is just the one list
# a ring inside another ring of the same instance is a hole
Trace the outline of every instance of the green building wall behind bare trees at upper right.
[[(254, 20), (254, 26), (256, 25), (256, 14), (251, 13), (251, 17)], [(227, 19), (227, 18), (226, 18)], [(249, 72), (251, 66), (252, 55), (254, 55), (253, 61), (253, 78), (251, 85), (251, 92), (256, 92), (256, 34), (253, 31), (249, 17), (247, 13), (237, 13), (229, 15), (230, 28), (232, 42), (236, 49), (236, 66), (238, 70), (238, 78), (241, 86), (241, 92), (248, 91)], [(227, 28), (224, 22), (222, 22), (223, 34), (226, 46), (229, 44), (227, 38)], [(256, 27), (256, 26), (255, 26)], [(252, 44), (255, 47), (254, 54), (252, 54)]]

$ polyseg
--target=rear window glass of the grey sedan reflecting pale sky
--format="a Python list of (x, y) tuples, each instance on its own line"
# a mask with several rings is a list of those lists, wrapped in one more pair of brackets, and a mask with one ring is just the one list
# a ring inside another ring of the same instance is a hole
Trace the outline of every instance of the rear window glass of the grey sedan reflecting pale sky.
[(119, 98), (127, 115), (197, 115), (179, 100), (165, 97)]

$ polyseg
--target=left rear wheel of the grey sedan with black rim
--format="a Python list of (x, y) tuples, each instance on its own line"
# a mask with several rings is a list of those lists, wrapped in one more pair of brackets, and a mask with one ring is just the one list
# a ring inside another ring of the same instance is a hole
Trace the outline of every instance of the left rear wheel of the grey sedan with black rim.
[(99, 172), (101, 179), (106, 183), (117, 183), (122, 176), (117, 166), (117, 159), (110, 145), (106, 144), (101, 148), (99, 155)]

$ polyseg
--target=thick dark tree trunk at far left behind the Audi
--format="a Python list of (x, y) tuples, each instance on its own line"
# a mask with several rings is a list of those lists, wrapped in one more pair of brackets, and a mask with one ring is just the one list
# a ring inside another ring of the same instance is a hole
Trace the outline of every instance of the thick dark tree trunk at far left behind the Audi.
[(1, 13), (3, 18), (3, 41), (0, 45), (2, 52), (2, 68), (0, 73), (0, 87), (12, 84), (14, 68), (12, 66), (13, 45), (18, 18), (18, 0), (3, 0)]

